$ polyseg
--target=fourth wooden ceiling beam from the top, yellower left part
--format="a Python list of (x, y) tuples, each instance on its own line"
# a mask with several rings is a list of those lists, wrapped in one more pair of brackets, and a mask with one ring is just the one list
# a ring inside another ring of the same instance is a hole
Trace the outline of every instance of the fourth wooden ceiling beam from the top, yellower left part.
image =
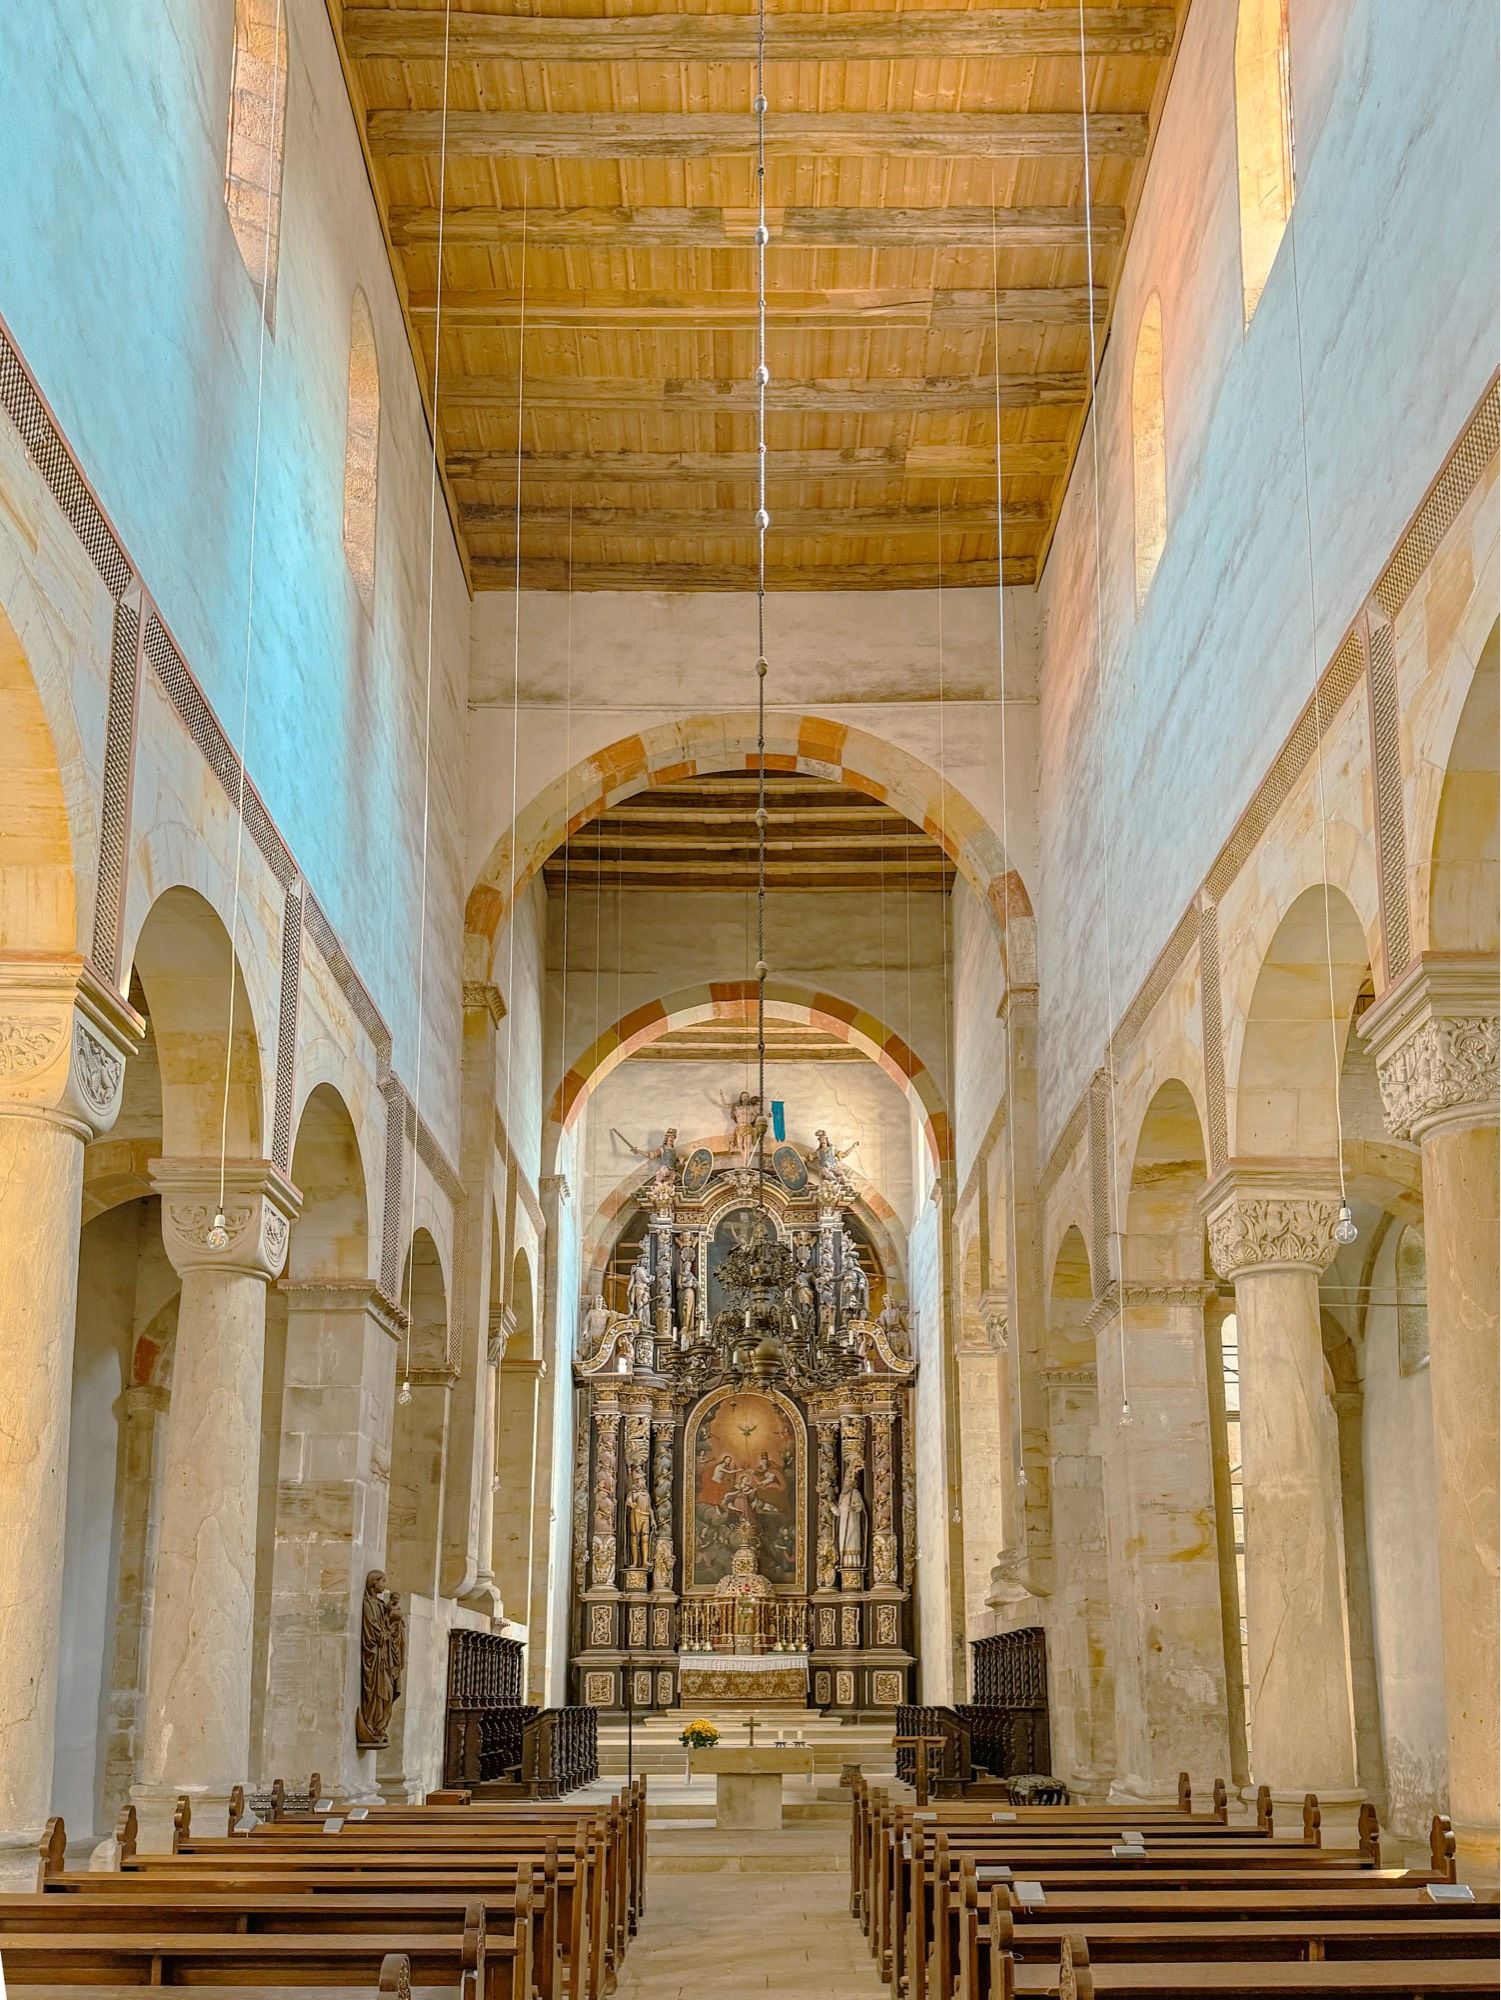
[[(1105, 320), (1109, 298), (1095, 288), (1095, 318)], [(418, 320), (432, 320), (438, 300), (432, 292), (414, 292), (410, 310)], [(773, 328), (803, 332), (829, 328), (849, 332), (865, 326), (903, 326), (917, 332), (989, 332), (997, 316), (1007, 326), (1085, 326), (1089, 288), (1083, 284), (1011, 286), (991, 292), (939, 290), (915, 292), (913, 286), (865, 288), (859, 292), (773, 292), (767, 300), (767, 322)], [(518, 328), (522, 302), (518, 292), (452, 290), (442, 296), (446, 326)], [(526, 328), (536, 332), (724, 332), (750, 330), (757, 324), (753, 292), (526, 292)]]

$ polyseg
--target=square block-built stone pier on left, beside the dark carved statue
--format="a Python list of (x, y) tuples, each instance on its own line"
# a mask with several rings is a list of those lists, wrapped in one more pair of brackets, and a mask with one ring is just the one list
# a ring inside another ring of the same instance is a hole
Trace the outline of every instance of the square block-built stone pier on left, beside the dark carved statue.
[(364, 1580), (386, 1566), (400, 1322), (366, 1280), (282, 1292), (286, 1394), (260, 1774), (316, 1770), (332, 1798), (374, 1802), (376, 1752), (354, 1742), (354, 1710)]

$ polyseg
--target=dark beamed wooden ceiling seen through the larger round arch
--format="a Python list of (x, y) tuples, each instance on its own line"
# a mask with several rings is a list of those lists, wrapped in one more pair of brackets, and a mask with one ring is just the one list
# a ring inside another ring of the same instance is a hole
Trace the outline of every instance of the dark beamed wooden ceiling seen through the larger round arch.
[[(634, 792), (546, 862), (548, 892), (757, 886), (757, 778), (682, 778)], [(767, 774), (767, 888), (947, 892), (953, 864), (921, 826), (829, 778)]]

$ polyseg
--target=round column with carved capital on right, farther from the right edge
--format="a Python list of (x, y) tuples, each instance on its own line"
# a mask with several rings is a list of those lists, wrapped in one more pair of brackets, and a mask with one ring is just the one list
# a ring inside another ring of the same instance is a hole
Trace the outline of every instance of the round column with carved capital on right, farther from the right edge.
[(1231, 1162), (1205, 1190), (1241, 1342), (1251, 1776), (1275, 1798), (1325, 1804), (1359, 1796), (1319, 1330), (1337, 1212), (1331, 1168)]

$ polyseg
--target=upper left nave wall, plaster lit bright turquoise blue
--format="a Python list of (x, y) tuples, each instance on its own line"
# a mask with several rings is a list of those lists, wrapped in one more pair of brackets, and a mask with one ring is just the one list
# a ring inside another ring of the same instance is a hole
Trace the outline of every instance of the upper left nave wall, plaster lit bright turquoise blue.
[[(0, 314), (232, 742), (254, 508), (250, 780), (410, 1078), (428, 434), (326, 10), (286, 0), (284, 18), (280, 268), (264, 350), (224, 206), (228, 0), (0, 10)], [(380, 362), (372, 616), (342, 546), (356, 286)], [(468, 608), (442, 496), (434, 586), (428, 1012), (456, 1020)], [(102, 702), (102, 688), (90, 692)], [(86, 700), (82, 684), (76, 694)], [(80, 726), (92, 740), (98, 722)], [(444, 1138), (450, 1082), (430, 1052)]]

